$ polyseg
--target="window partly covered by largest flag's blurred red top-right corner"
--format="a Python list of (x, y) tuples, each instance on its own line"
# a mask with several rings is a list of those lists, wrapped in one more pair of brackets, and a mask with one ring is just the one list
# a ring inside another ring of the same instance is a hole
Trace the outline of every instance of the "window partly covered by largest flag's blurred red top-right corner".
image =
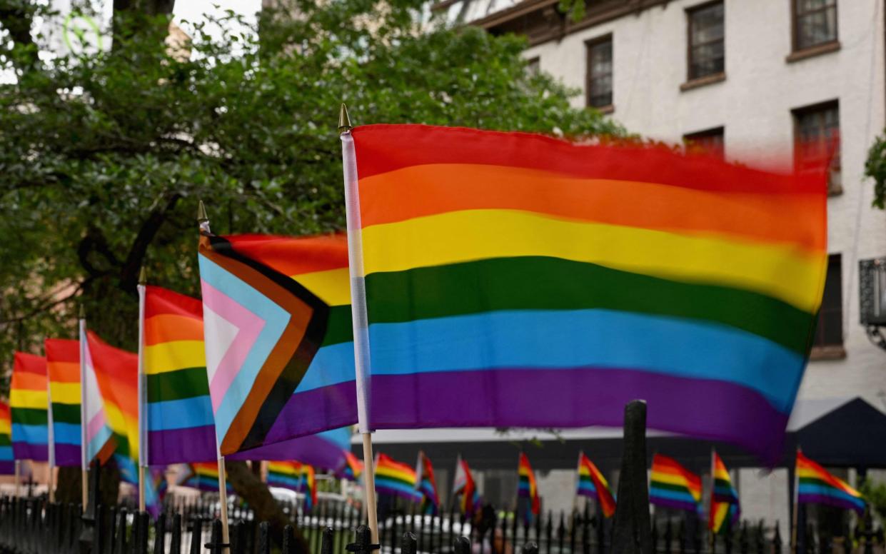
[(797, 169), (828, 168), (831, 194), (843, 191), (840, 168), (840, 105), (836, 100), (794, 110)]

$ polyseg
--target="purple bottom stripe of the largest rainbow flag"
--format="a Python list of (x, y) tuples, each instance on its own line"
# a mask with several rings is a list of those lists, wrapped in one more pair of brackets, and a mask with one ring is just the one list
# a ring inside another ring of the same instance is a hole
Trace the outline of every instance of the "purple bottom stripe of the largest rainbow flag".
[[(625, 404), (642, 399), (647, 402), (650, 428), (732, 442), (772, 464), (781, 454), (788, 423), (786, 414), (744, 386), (640, 370), (499, 369), (375, 375), (371, 386), (370, 419), (378, 429), (618, 427), (623, 423)], [(544, 410), (539, 410), (540, 406)]]

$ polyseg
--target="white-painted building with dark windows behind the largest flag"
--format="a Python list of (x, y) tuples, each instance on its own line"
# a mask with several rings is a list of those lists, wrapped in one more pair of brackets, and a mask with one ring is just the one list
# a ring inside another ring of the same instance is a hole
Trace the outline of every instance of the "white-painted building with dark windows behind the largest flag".
[[(828, 283), (799, 398), (860, 396), (883, 410), (886, 352), (859, 324), (859, 261), (886, 256), (886, 214), (871, 207), (864, 177), (886, 126), (883, 1), (587, 0), (579, 21), (557, 6), (443, 0), (432, 9), (525, 35), (530, 71), (643, 137), (764, 167), (827, 161)], [(788, 472), (735, 473), (744, 517), (778, 520), (787, 536)], [(551, 471), (539, 487), (568, 507), (573, 479)]]

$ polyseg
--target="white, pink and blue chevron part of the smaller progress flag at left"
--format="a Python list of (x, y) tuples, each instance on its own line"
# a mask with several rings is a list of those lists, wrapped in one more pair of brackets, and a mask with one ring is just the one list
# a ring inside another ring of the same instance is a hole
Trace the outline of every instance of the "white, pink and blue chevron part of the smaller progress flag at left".
[[(114, 439), (111, 425), (105, 410), (105, 400), (102, 398), (101, 389), (98, 386), (96, 366), (93, 363), (92, 347), (88, 339), (89, 332), (86, 330), (86, 321), (80, 320), (80, 347), (82, 353), (81, 402), (86, 405), (86, 428), (81, 429), (82, 441), (86, 443), (86, 452), (83, 456), (83, 464), (90, 464), (98, 459), (102, 463), (113, 455), (117, 443)], [(103, 349), (100, 349), (103, 350)], [(85, 386), (83, 383), (85, 382)], [(136, 399), (133, 398), (133, 403)], [(85, 468), (84, 468), (85, 469)]]

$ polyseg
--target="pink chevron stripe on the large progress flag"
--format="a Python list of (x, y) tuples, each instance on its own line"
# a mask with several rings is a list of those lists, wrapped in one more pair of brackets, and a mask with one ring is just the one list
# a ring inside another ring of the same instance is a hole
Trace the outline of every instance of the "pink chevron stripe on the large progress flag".
[[(200, 279), (203, 291), (203, 303), (213, 310), (229, 324), (237, 327), (237, 336), (224, 353), (215, 369), (213, 380), (209, 383), (209, 395), (213, 400), (213, 411), (218, 411), (219, 404), (228, 392), (230, 384), (237, 377), (237, 373), (245, 362), (246, 356), (252, 350), (261, 330), (264, 329), (265, 320), (253, 314), (253, 312), (238, 304), (237, 301), (222, 293), (213, 285), (209, 285)], [(209, 341), (206, 341), (208, 346)]]

